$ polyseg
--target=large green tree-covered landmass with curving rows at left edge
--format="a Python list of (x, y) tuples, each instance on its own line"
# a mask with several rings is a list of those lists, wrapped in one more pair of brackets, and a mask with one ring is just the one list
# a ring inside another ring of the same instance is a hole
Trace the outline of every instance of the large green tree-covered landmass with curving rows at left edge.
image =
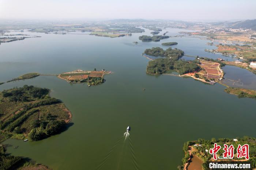
[[(0, 93), (0, 133), (15, 139), (41, 140), (71, 120), (71, 112), (49, 89), (24, 85)], [(0, 139), (5, 139), (1, 135)]]

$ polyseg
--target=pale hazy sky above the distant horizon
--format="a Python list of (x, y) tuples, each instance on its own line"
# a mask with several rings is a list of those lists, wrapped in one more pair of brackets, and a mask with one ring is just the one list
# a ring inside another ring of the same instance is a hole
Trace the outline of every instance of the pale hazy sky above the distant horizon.
[(0, 19), (256, 19), (256, 0), (0, 0)]

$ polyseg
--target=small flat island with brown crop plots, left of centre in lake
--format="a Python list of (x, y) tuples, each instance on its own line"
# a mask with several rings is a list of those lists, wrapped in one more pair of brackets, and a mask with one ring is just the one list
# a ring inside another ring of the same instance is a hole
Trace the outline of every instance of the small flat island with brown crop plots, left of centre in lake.
[(75, 70), (72, 72), (61, 73), (59, 78), (68, 81), (69, 83), (84, 83), (87, 82), (88, 86), (102, 84), (105, 82), (105, 74), (110, 74), (110, 71), (84, 71), (84, 70)]

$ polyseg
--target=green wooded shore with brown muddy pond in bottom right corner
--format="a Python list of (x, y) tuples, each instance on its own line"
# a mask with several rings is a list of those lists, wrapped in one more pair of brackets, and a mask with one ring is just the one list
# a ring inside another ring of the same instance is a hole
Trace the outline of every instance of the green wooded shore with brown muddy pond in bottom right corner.
[[(197, 139), (195, 141), (188, 141), (184, 143), (183, 151), (185, 152), (184, 158), (182, 158), (183, 165), (178, 166), (178, 170), (187, 170), (187, 169), (203, 169), (208, 170), (209, 165), (208, 161), (215, 161), (212, 158), (212, 155), (209, 153), (210, 148), (214, 147), (214, 143), (217, 143), (221, 148), (224, 148), (224, 144), (230, 146), (231, 144), (237, 148), (238, 144), (241, 146), (244, 144), (249, 144), (250, 152), (249, 157), (251, 163), (251, 169), (256, 167), (256, 138), (244, 136), (243, 138), (235, 138), (235, 139), (228, 139), (228, 138), (220, 138), (215, 139), (212, 138), (211, 140), (206, 139)], [(247, 161), (245, 158), (237, 158), (236, 151), (234, 151), (234, 158), (233, 159), (225, 159), (223, 158), (223, 149), (220, 149), (217, 153), (217, 161), (231, 161), (235, 163), (241, 163), (237, 161)]]

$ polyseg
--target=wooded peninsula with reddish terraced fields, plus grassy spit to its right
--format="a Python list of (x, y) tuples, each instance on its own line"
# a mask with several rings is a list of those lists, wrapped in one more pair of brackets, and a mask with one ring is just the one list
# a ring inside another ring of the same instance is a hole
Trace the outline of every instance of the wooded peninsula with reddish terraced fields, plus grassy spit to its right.
[[(186, 76), (208, 84), (215, 84), (216, 82), (222, 84), (221, 81), (223, 80), (224, 73), (221, 67), (225, 65), (222, 61), (203, 57), (197, 57), (193, 61), (182, 61), (179, 60), (179, 58), (184, 55), (184, 52), (179, 49), (172, 49), (171, 47), (166, 50), (163, 50), (160, 47), (153, 47), (152, 49), (146, 49), (143, 55), (151, 60), (148, 62), (146, 69), (148, 74), (165, 74), (179, 77)], [(162, 58), (152, 59), (147, 55)], [(170, 70), (174, 70), (179, 74), (175, 75), (167, 73)], [(227, 93), (235, 94), (238, 97), (256, 98), (256, 90), (225, 86), (227, 87), (225, 89), (225, 92)]]

